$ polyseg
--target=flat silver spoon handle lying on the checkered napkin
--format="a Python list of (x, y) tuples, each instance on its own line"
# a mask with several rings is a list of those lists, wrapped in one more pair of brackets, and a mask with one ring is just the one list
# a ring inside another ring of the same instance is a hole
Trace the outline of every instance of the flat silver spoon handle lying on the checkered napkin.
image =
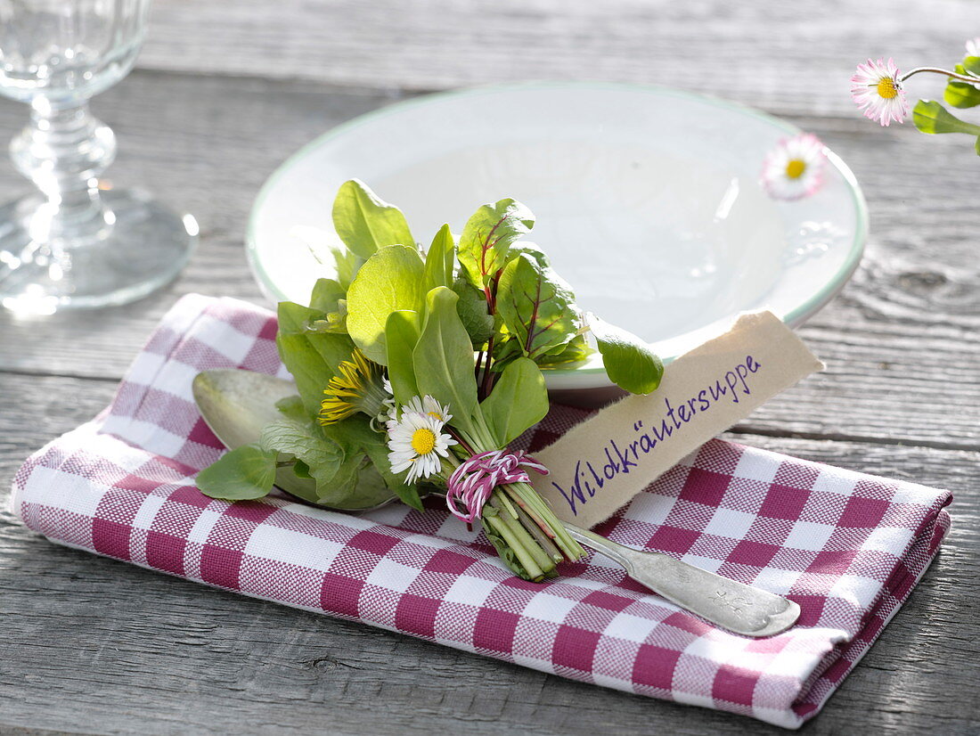
[(744, 636), (772, 636), (800, 617), (800, 607), (774, 593), (682, 563), (660, 552), (642, 552), (566, 523), (573, 539), (621, 564), (626, 573), (671, 603)]

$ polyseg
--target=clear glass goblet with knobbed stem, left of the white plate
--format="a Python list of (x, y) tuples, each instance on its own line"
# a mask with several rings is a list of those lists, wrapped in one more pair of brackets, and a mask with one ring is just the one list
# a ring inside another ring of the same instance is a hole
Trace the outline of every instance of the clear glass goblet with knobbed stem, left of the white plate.
[(100, 186), (116, 136), (88, 99), (136, 60), (150, 0), (0, 0), (0, 94), (30, 105), (11, 142), (38, 191), (0, 206), (0, 305), (18, 314), (118, 305), (170, 281), (197, 223)]

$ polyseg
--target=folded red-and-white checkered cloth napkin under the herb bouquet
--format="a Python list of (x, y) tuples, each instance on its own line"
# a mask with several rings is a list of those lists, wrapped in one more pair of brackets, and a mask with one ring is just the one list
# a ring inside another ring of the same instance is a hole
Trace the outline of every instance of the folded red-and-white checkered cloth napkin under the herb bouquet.
[[(26, 461), (15, 513), (70, 547), (788, 728), (820, 710), (949, 529), (948, 492), (709, 442), (597, 530), (800, 604), (796, 627), (748, 639), (679, 610), (599, 556), (564, 564), (554, 581), (520, 580), (439, 504), (355, 516), (285, 498), (209, 499), (194, 474), (221, 445), (194, 407), (191, 380), (205, 368), (286, 375), (274, 336), (265, 310), (182, 299), (112, 405)], [(530, 446), (586, 416), (554, 408)]]

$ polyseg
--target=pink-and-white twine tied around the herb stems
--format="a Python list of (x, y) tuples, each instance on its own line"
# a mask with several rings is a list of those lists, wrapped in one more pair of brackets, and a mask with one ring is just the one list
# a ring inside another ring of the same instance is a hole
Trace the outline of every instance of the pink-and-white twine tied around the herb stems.
[(527, 469), (548, 474), (547, 467), (519, 450), (515, 453), (489, 450), (474, 455), (449, 476), (446, 506), (453, 515), (471, 524), (483, 513), (483, 505), (494, 488), (530, 482)]

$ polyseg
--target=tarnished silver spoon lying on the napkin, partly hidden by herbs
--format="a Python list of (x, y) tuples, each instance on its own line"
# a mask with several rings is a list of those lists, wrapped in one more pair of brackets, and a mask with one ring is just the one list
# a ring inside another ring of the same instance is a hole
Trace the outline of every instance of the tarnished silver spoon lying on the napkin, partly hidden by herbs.
[[(259, 440), (262, 427), (278, 417), (275, 402), (296, 394), (296, 385), (251, 370), (206, 370), (194, 379), (193, 393), (205, 422), (225, 446), (233, 449)], [(276, 484), (309, 502), (311, 487), (304, 485), (306, 481), (297, 484), (297, 480), (302, 481), (290, 473), (277, 476)], [(316, 498), (315, 493), (312, 498)], [(671, 603), (736, 634), (772, 636), (790, 628), (800, 617), (800, 607), (782, 596), (659, 552), (616, 544), (573, 524), (565, 523), (564, 528), (575, 540), (621, 564), (626, 574)]]

